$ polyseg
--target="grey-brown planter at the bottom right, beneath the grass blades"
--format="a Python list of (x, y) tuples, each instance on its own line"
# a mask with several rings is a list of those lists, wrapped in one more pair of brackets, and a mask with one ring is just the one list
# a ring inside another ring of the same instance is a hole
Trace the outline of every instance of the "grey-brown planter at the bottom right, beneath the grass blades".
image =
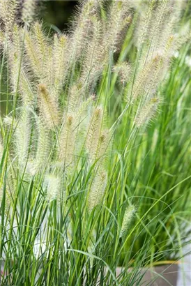
[[(116, 275), (119, 276), (120, 273), (121, 268), (119, 267), (116, 270)], [(142, 269), (139, 276), (143, 276), (140, 282), (142, 286), (176, 286), (178, 280), (178, 265), (167, 264)]]

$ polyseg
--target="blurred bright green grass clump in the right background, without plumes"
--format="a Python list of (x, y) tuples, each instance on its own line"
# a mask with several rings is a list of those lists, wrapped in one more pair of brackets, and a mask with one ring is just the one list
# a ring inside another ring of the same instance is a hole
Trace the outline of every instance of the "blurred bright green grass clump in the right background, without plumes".
[[(125, 242), (126, 248), (132, 247), (131, 256), (135, 259), (145, 241), (150, 241), (145, 265), (176, 263), (184, 246), (190, 243), (188, 50), (190, 45), (183, 47), (167, 82), (161, 86), (160, 93), (165, 94), (160, 105), (161, 112), (147, 129), (141, 129), (132, 151), (123, 162), (126, 164), (127, 198), (139, 206), (137, 227), (133, 228), (133, 233)], [(124, 137), (128, 140), (128, 132)], [(118, 138), (119, 149), (123, 150), (123, 140)]]

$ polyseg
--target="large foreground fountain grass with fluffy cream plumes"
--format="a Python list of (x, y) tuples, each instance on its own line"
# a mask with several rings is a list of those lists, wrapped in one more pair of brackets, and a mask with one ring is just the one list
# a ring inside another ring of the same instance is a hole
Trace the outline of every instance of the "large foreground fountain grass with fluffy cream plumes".
[[(13, 99), (1, 118), (1, 285), (141, 285), (139, 269), (181, 257), (187, 236), (188, 71), (169, 74), (188, 33), (181, 3), (83, 1), (55, 33), (33, 21), (37, 2), (0, 2)], [(178, 150), (172, 165), (166, 150)]]

